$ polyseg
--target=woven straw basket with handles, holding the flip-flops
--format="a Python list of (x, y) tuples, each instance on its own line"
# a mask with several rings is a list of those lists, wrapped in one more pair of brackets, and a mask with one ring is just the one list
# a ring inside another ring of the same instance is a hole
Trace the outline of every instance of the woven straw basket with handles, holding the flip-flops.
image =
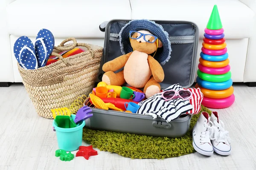
[[(70, 40), (73, 44), (64, 45)], [(77, 46), (84, 46), (88, 51), (67, 58), (58, 54)], [(17, 63), (37, 113), (53, 119), (51, 109), (69, 108), (79, 96), (88, 95), (95, 84), (102, 53), (102, 47), (77, 43), (76, 39), (68, 38), (52, 51), (52, 55), (60, 58), (57, 62), (35, 70), (26, 70)]]

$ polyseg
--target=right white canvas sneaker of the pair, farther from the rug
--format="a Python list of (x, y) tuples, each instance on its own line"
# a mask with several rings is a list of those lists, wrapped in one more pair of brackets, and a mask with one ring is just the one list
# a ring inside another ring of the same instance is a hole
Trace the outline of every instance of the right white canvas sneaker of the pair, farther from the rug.
[(224, 123), (218, 117), (218, 112), (212, 112), (210, 120), (213, 123), (210, 137), (214, 152), (224, 156), (230, 155), (231, 139), (229, 132), (224, 129)]

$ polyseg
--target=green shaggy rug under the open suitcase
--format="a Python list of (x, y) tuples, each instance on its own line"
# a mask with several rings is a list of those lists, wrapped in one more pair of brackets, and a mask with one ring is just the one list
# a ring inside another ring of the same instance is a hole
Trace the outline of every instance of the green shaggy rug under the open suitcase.
[(182, 156), (195, 152), (191, 131), (202, 111), (211, 113), (209, 109), (202, 106), (200, 113), (192, 117), (189, 131), (181, 138), (169, 139), (84, 128), (83, 139), (101, 151), (117, 153), (132, 159)]

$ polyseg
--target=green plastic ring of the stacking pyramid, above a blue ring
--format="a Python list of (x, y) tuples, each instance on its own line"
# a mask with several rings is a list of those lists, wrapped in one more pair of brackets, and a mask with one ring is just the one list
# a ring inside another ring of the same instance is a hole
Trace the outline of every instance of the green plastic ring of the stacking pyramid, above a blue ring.
[(221, 75), (212, 75), (212, 74), (206, 74), (203, 73), (202, 71), (198, 70), (197, 71), (198, 77), (208, 81), (208, 82), (226, 82), (227, 80), (229, 80), (231, 78), (231, 72), (227, 72), (225, 74), (221, 74)]

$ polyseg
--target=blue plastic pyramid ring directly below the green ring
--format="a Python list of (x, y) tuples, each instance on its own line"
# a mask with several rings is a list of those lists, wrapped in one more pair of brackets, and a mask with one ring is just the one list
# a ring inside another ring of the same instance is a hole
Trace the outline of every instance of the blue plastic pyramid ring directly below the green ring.
[(209, 90), (225, 90), (232, 86), (232, 79), (227, 80), (226, 82), (208, 82), (199, 77), (196, 77), (196, 82), (202, 88), (207, 88)]

